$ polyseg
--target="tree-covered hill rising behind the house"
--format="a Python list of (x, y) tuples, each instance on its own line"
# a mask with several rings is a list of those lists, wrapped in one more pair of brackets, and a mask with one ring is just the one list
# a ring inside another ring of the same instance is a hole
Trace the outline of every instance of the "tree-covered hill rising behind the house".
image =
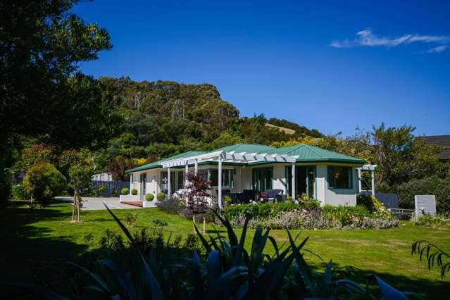
[[(123, 134), (111, 141), (112, 156), (152, 159), (191, 149), (213, 149), (237, 142), (271, 144), (296, 137), (322, 137), (287, 120), (264, 115), (240, 118), (213, 85), (172, 81), (135, 82), (129, 77), (99, 78), (104, 97), (125, 116)], [(294, 135), (277, 127), (294, 130)]]

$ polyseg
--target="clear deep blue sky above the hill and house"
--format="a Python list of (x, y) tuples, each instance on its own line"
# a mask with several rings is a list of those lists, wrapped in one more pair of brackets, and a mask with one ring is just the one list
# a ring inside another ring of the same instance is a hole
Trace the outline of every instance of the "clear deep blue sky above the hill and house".
[(450, 1), (318, 2), (82, 2), (113, 43), (82, 70), (208, 82), (241, 115), (326, 134), (382, 122), (450, 134)]

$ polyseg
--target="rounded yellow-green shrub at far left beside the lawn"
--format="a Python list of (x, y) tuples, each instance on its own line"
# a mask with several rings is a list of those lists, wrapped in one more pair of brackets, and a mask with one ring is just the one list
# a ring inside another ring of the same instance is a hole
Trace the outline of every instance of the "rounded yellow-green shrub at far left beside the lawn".
[(33, 165), (23, 179), (23, 187), (32, 201), (42, 206), (50, 203), (51, 198), (63, 192), (67, 184), (65, 177), (51, 163)]

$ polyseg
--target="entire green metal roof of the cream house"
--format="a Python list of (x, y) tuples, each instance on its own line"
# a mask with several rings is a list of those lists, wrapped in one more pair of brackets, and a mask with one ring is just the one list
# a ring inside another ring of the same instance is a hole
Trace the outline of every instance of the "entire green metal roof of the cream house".
[[(330, 162), (330, 163), (357, 163), (363, 164), (365, 161), (360, 158), (354, 158), (352, 156), (339, 154), (337, 152), (328, 151), (322, 148), (318, 148), (315, 146), (307, 145), (307, 144), (298, 144), (294, 146), (287, 146), (282, 148), (275, 148), (271, 146), (265, 146), (260, 144), (235, 144), (232, 146), (225, 146), (223, 148), (215, 149), (210, 152), (215, 151), (225, 151), (225, 152), (247, 152), (247, 153), (256, 153), (256, 154), (280, 154), (287, 156), (299, 156), (296, 158), (297, 163), (320, 163), (320, 162)], [(205, 151), (187, 151), (182, 154), (178, 154), (175, 156), (170, 156), (161, 161), (155, 161), (154, 163), (148, 163), (146, 165), (140, 165), (137, 168), (133, 168), (130, 170), (126, 170), (125, 173), (132, 173), (142, 170), (150, 170), (155, 168), (163, 168), (162, 163), (164, 161), (168, 161), (170, 159), (175, 158), (187, 158), (190, 156), (196, 156), (199, 154), (206, 154), (209, 152)], [(261, 163), (269, 163), (269, 162), (254, 162), (249, 163), (249, 165), (256, 165)], [(272, 162), (270, 162), (272, 163)], [(245, 164), (245, 163), (239, 163)]]

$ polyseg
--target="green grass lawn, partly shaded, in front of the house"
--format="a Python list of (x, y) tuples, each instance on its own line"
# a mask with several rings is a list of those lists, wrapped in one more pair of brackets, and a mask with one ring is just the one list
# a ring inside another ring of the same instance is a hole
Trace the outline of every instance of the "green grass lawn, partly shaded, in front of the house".
[[(169, 225), (165, 232), (187, 235), (192, 223), (180, 215), (168, 215), (157, 208), (137, 210), (114, 210), (118, 218), (125, 213), (137, 215), (135, 227), (154, 227), (152, 220), (165, 220)], [(1, 246), (0, 281), (15, 280), (49, 285), (57, 289), (65, 261), (77, 262), (87, 250), (85, 235), (92, 233), (98, 241), (106, 229), (120, 232), (118, 225), (107, 211), (82, 211), (81, 223), (70, 223), (71, 206), (52, 204), (49, 208), (30, 209), (21, 202), (13, 201), (0, 209)], [(212, 227), (208, 225), (208, 232)], [(239, 233), (239, 230), (237, 230)], [(252, 235), (249, 232), (249, 237)], [(280, 243), (285, 242), (283, 230), (272, 230), (271, 235)], [(298, 231), (294, 231), (296, 235)], [(391, 230), (306, 230), (301, 237), (310, 237), (307, 248), (320, 255), (324, 261), (337, 265), (353, 265), (359, 268), (354, 280), (365, 282), (365, 277), (377, 274), (404, 291), (420, 292), (428, 299), (448, 299), (450, 274), (444, 280), (439, 270), (427, 270), (427, 264), (411, 256), (411, 243), (427, 239), (450, 251), (450, 231), (401, 223)], [(246, 246), (249, 247), (250, 239)], [(270, 253), (273, 249), (267, 249)], [(316, 268), (323, 268), (318, 258), (307, 256)]]

